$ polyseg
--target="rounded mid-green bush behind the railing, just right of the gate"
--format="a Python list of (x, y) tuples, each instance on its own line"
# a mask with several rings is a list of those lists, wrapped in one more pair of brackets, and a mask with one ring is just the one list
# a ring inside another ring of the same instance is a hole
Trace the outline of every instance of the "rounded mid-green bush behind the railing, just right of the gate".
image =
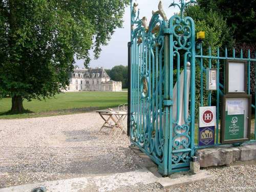
[[(195, 21), (196, 33), (205, 32), (205, 39), (202, 42), (203, 55), (208, 55), (208, 48), (211, 47), (211, 54), (217, 54), (217, 48), (232, 48), (234, 40), (232, 39), (233, 31), (227, 26), (225, 19), (216, 11), (207, 11), (199, 5), (190, 5), (185, 9), (185, 15), (190, 16)], [(224, 50), (224, 49), (223, 49)], [(197, 50), (199, 51), (199, 50)], [(212, 60), (212, 67), (216, 67), (216, 60)], [(208, 59), (203, 60), (203, 65), (208, 68)], [(200, 106), (200, 67), (196, 66), (196, 114)], [(205, 79), (205, 78), (203, 78)], [(204, 82), (204, 85), (206, 83)], [(212, 102), (216, 102), (216, 96), (212, 94)], [(204, 88), (203, 102), (207, 103), (207, 92)]]

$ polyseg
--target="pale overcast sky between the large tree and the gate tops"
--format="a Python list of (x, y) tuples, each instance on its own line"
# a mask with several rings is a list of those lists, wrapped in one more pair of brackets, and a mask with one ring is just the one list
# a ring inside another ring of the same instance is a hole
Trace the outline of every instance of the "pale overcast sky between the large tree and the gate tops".
[[(133, 1), (136, 2), (136, 1)], [(177, 0), (175, 2), (178, 2)], [(146, 16), (148, 24), (152, 16), (152, 10), (158, 10), (158, 0), (137, 0), (140, 9), (140, 19), (143, 16)], [(167, 18), (172, 16), (174, 13), (179, 12), (178, 8), (168, 8), (173, 0), (162, 0), (164, 11), (167, 15)], [(130, 6), (125, 8), (125, 13), (123, 15), (123, 28), (116, 29), (113, 34), (109, 44), (102, 47), (100, 57), (97, 60), (93, 59), (91, 53), (91, 62), (90, 67), (103, 67), (104, 69), (111, 69), (114, 66), (118, 65), (127, 65), (127, 42), (130, 41)], [(77, 60), (76, 65), (83, 67), (83, 61)]]

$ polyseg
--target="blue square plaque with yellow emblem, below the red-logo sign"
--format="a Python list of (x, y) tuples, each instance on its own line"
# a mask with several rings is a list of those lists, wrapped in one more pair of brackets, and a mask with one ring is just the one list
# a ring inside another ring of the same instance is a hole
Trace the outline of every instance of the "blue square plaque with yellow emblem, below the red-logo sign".
[(199, 127), (198, 145), (214, 145), (215, 141), (215, 126)]

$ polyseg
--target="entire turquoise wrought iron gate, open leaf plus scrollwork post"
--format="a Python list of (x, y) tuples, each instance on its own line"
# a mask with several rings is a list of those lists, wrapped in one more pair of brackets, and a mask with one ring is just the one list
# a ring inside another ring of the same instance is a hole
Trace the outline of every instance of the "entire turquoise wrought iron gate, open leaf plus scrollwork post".
[(131, 142), (158, 164), (162, 175), (189, 169), (194, 156), (195, 25), (167, 19), (161, 1), (147, 25), (131, 0)]

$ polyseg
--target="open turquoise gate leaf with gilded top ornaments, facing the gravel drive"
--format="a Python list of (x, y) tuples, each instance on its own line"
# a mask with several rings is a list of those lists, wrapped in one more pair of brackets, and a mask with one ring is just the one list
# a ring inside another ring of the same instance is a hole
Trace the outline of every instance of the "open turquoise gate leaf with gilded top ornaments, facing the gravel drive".
[[(132, 129), (131, 141), (141, 148), (146, 154), (151, 156), (157, 164), (163, 162), (164, 138), (162, 126), (162, 106), (156, 102), (156, 94), (159, 95), (159, 87), (162, 86), (162, 74), (158, 75), (160, 67), (159, 55), (163, 53), (163, 28), (165, 22), (159, 13), (154, 13), (149, 25), (147, 19), (139, 18), (138, 4), (132, 4), (131, 1), (131, 44), (134, 50), (133, 80), (139, 83), (132, 87), (134, 99), (132, 108)], [(162, 67), (161, 67), (162, 68)], [(154, 75), (155, 76), (154, 76)], [(157, 74), (157, 76), (156, 76)], [(154, 79), (153, 79), (154, 78)], [(143, 79), (147, 79), (147, 94), (145, 91), (145, 83)], [(153, 82), (154, 81), (154, 82)], [(139, 92), (138, 92), (139, 91)]]

